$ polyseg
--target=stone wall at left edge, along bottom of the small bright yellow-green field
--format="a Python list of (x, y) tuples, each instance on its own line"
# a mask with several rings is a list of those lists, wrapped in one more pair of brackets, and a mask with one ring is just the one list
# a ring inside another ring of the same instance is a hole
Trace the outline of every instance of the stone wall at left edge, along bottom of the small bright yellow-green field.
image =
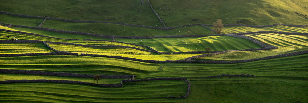
[(47, 55), (72, 55), (72, 56), (78, 56), (77, 53), (68, 53), (68, 52), (49, 52), (49, 53), (25, 53), (25, 54), (0, 54), (0, 57), (13, 57), (13, 56), (47, 56)]

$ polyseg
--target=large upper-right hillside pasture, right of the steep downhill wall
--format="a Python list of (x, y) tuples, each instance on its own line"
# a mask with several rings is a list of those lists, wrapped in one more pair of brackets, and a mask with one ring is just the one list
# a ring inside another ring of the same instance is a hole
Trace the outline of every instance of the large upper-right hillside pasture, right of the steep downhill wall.
[(152, 0), (151, 3), (168, 27), (213, 24), (217, 19), (224, 24), (308, 24), (306, 0)]

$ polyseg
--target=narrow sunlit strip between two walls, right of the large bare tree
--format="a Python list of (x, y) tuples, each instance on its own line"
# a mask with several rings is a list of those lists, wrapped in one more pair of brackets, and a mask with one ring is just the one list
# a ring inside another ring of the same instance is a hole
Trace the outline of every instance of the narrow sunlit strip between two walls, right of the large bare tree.
[(230, 26), (223, 29), (224, 34), (229, 33), (243, 33), (243, 32), (256, 32), (256, 31), (282, 31), (282, 32), (299, 32), (307, 33), (308, 27), (288, 27), (288, 26), (273, 26), (273, 27), (241, 27), (241, 26)]

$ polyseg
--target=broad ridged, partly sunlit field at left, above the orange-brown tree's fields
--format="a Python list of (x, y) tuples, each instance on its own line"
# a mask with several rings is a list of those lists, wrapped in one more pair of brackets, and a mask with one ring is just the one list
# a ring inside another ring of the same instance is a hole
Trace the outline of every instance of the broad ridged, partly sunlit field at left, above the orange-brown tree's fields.
[(163, 64), (87, 56), (0, 57), (0, 62), (1, 68), (4, 69), (108, 75), (151, 73), (163, 66)]

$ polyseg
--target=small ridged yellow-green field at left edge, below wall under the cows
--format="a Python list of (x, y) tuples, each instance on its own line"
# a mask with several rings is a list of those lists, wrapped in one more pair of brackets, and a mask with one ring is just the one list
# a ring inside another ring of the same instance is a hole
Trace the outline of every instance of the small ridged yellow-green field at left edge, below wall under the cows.
[(43, 43), (0, 43), (0, 54), (54, 52)]

